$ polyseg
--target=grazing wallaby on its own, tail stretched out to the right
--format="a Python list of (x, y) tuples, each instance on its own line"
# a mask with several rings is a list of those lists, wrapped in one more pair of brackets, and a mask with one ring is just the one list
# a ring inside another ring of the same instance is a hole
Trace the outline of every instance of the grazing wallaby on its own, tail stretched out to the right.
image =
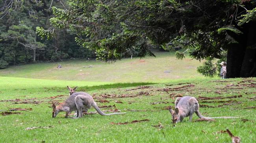
[(184, 96), (178, 97), (175, 100), (175, 111), (169, 108), (172, 114), (173, 123), (181, 122), (185, 117), (189, 116), (189, 121), (192, 120), (192, 115), (195, 112), (199, 118), (215, 119), (215, 118), (239, 118), (239, 117), (204, 117), (199, 112), (199, 104), (195, 97)]

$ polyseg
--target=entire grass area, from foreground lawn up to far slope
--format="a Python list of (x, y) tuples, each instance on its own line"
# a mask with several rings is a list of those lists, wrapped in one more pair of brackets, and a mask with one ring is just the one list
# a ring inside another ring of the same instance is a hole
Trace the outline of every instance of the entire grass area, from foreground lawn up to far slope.
[[(256, 78), (207, 79), (196, 71), (202, 64), (197, 60), (176, 60), (167, 52), (156, 55), (115, 63), (69, 60), (60, 62), (61, 69), (58, 63), (1, 69), (0, 143), (231, 142), (226, 129), (242, 143), (256, 140)], [(91, 94), (106, 113), (127, 114), (100, 116), (90, 109), (80, 119), (66, 119), (64, 112), (52, 118), (50, 106), (69, 97), (67, 85)], [(206, 117), (240, 118), (197, 122), (194, 114), (192, 122), (185, 118), (173, 126), (167, 109), (174, 109), (178, 96), (197, 98)]]

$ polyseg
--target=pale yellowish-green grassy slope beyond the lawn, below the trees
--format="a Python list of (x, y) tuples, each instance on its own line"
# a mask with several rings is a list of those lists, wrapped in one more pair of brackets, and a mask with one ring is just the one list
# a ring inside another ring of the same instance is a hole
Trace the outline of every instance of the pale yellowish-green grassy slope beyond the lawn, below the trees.
[[(0, 76), (71, 81), (166, 82), (170, 79), (204, 78), (197, 72), (197, 60), (176, 60), (169, 52), (155, 52), (156, 58), (122, 59), (115, 63), (91, 60), (69, 60), (12, 66), (0, 70)], [(91, 68), (88, 66), (91, 65)]]

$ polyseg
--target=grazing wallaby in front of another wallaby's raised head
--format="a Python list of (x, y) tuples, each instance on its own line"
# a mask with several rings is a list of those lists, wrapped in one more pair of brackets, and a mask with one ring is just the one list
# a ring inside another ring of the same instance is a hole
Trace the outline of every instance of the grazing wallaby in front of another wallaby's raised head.
[(56, 107), (55, 104), (52, 105), (52, 108), (53, 108), (52, 118), (55, 118), (59, 112), (66, 112), (65, 118), (67, 118), (69, 115), (69, 112), (72, 112), (74, 110), (77, 110), (76, 118), (82, 118), (82, 109), (85, 108), (86, 110), (88, 110), (91, 107), (94, 107), (96, 111), (102, 116), (114, 115), (114, 114), (126, 114), (126, 113), (105, 114), (99, 109), (99, 107), (97, 106), (96, 102), (93, 100), (93, 97), (91, 97), (91, 95), (85, 92), (76, 92), (76, 93), (73, 93), (71, 96), (69, 96), (69, 98), (67, 98), (67, 100), (65, 100), (59, 106)]

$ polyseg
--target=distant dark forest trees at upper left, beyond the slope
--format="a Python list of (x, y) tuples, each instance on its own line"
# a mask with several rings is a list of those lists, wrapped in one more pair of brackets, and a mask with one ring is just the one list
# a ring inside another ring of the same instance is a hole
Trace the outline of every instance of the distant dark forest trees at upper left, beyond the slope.
[(92, 58), (94, 51), (76, 44), (76, 34), (60, 29), (50, 40), (36, 27), (50, 27), (52, 7), (66, 8), (66, 0), (0, 0), (0, 69), (8, 65)]

